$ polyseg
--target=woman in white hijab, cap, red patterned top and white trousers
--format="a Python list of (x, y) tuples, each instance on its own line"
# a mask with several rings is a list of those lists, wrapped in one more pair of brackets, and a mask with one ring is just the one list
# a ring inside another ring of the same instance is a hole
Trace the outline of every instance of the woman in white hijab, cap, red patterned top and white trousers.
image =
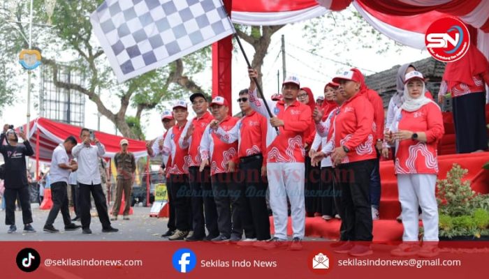
[[(435, 184), (438, 174), (437, 144), (444, 135), (438, 105), (426, 98), (424, 77), (418, 71), (405, 76), (404, 102), (384, 137), (395, 143), (395, 174), (402, 206), (403, 243), (391, 251), (396, 256), (437, 255), (438, 208)], [(423, 246), (418, 244), (418, 206), (423, 210)]]

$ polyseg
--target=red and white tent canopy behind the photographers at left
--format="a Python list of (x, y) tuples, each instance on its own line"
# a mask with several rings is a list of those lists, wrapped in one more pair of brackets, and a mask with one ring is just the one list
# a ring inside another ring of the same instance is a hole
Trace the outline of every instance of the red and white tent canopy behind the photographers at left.
[[(80, 142), (81, 128), (77, 126), (52, 121), (42, 117), (31, 121), (29, 126), (29, 142), (34, 149), (34, 152), (37, 150), (37, 133), (39, 133), (39, 160), (44, 162), (51, 161), (52, 151), (54, 151), (58, 144), (64, 142), (70, 135), (73, 135), (73, 137)], [(24, 130), (26, 130), (25, 125)], [(115, 153), (120, 151), (119, 142), (123, 137), (98, 131), (95, 132), (95, 137), (97, 137), (105, 146), (106, 152), (104, 158), (113, 158)], [(144, 141), (126, 140), (129, 141), (129, 151), (131, 151), (136, 158), (147, 156), (146, 144)]]

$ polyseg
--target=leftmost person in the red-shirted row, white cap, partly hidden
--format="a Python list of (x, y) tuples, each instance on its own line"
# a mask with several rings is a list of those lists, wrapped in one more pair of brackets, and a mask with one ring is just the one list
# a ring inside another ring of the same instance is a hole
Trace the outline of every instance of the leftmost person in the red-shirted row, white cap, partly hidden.
[[(173, 118), (173, 114), (170, 110), (163, 111), (163, 114), (161, 114), (161, 123), (163, 123), (165, 133), (156, 137), (156, 140), (153, 141), (153, 144), (151, 144), (151, 141), (146, 142), (147, 153), (151, 158), (154, 158), (161, 154), (161, 151), (163, 151), (163, 141), (165, 140), (166, 134), (168, 133), (168, 130), (170, 130), (170, 128), (175, 126), (175, 119)], [(166, 155), (162, 155), (161, 162), (161, 168), (165, 169), (167, 165), (171, 165), (171, 158), (168, 158), (168, 156)], [(170, 174), (168, 174), (167, 172), (166, 179), (168, 179), (169, 177)], [(170, 218), (168, 218), (168, 230), (164, 234), (161, 234), (161, 237), (168, 237), (174, 234), (175, 229), (177, 229), (175, 227), (175, 206), (173, 206), (173, 199), (169, 187), (169, 185), (166, 185), (166, 188), (168, 190), (168, 211), (170, 212)]]

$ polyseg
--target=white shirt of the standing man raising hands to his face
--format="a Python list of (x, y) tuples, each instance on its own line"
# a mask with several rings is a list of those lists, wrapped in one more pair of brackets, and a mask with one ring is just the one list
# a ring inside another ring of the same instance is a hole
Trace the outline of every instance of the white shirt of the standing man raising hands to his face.
[(105, 154), (105, 146), (98, 143), (86, 146), (77, 144), (71, 151), (75, 158), (78, 158), (78, 183), (96, 185), (102, 183), (98, 170), (98, 158)]

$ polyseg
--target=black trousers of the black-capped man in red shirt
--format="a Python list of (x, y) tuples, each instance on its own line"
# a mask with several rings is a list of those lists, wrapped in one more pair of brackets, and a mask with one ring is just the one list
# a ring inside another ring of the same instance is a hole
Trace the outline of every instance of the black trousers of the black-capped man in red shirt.
[(205, 227), (207, 227), (209, 236), (218, 236), (217, 209), (214, 195), (212, 195), (210, 167), (206, 167), (203, 172), (199, 172), (198, 167), (189, 167), (189, 185), (191, 189), (194, 236), (196, 238), (204, 237)]

